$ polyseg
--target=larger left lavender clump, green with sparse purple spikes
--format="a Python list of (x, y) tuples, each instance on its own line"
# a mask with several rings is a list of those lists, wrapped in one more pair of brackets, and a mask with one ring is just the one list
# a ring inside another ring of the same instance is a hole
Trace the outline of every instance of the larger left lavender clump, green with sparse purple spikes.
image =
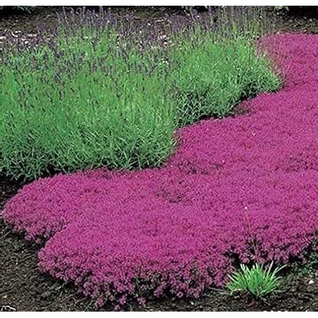
[[(114, 33), (60, 35), (54, 48), (0, 66), (0, 167), (15, 177), (160, 165), (172, 151), (172, 100), (146, 53), (117, 49)], [(85, 40), (86, 39), (86, 40)]]

